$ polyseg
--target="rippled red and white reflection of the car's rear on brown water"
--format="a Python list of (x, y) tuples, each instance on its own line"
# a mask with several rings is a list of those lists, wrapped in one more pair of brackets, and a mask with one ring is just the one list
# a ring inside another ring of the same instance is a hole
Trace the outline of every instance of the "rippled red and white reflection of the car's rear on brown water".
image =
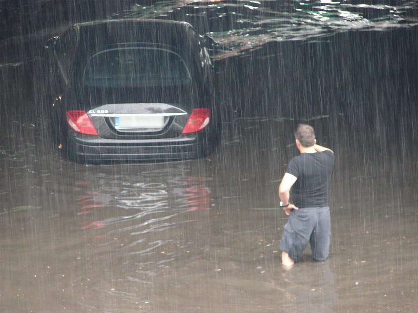
[[(76, 214), (83, 216), (81, 228), (105, 228), (106, 236), (126, 232), (133, 241), (123, 244), (126, 249), (139, 243), (148, 245), (144, 234), (176, 227), (179, 214), (210, 209), (211, 191), (205, 183), (212, 179), (188, 176), (189, 171), (178, 163), (165, 169), (147, 169), (134, 176), (127, 172), (86, 173), (86, 180), (76, 182), (79, 194)], [(101, 219), (97, 220), (97, 216)], [(141, 239), (135, 241), (138, 236)], [(135, 253), (149, 252), (163, 243)]]

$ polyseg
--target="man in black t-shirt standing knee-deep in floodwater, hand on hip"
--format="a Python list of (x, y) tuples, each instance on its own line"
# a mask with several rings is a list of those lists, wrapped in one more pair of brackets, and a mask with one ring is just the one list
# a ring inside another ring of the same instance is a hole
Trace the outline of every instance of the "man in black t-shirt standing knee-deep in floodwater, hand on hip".
[(289, 215), (280, 243), (284, 266), (297, 262), (308, 242), (312, 258), (325, 261), (331, 235), (328, 180), (334, 152), (317, 145), (314, 128), (306, 124), (296, 128), (295, 143), (300, 155), (290, 160), (279, 185), (280, 207)]

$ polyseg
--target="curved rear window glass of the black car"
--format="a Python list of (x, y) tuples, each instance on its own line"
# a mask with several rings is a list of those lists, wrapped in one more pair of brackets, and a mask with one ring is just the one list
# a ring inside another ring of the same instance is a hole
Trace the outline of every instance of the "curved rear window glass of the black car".
[(191, 83), (175, 52), (160, 48), (117, 48), (93, 55), (84, 70), (86, 87), (168, 87)]

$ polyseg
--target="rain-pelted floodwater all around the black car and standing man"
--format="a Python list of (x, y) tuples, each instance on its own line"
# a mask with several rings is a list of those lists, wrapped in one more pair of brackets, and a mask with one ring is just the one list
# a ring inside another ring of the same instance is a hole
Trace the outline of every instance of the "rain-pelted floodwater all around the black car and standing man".
[[(0, 0), (1, 312), (418, 312), (418, 3)], [(53, 144), (45, 45), (74, 23), (209, 36), (205, 157), (84, 164)], [(335, 152), (330, 256), (279, 248), (312, 125)]]

